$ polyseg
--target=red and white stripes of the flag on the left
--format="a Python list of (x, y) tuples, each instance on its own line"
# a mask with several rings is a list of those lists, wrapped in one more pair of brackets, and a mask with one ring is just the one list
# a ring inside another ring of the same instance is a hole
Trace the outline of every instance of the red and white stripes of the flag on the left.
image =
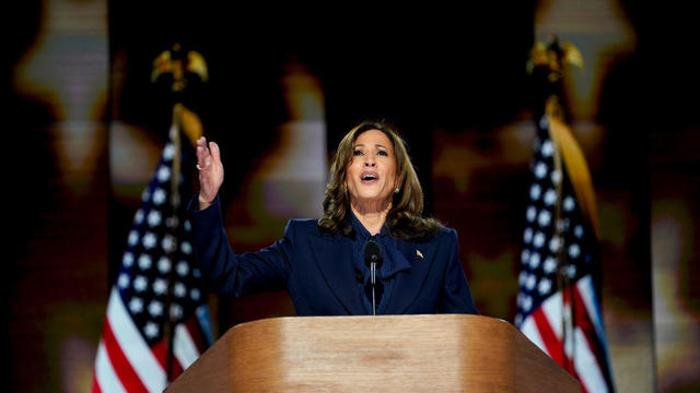
[[(200, 355), (192, 338), (195, 320), (175, 329), (172, 376), (178, 376)], [(93, 392), (162, 392), (167, 386), (165, 341), (149, 347), (131, 320), (116, 288), (112, 289), (107, 317), (95, 359)]]

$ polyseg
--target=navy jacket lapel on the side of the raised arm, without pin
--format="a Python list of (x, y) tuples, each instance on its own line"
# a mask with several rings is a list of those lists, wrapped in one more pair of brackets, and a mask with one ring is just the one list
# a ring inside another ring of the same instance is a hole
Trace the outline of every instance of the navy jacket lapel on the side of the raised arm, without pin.
[(320, 274), (338, 302), (351, 315), (364, 314), (352, 269), (352, 242), (345, 236), (313, 235), (310, 237), (314, 259)]

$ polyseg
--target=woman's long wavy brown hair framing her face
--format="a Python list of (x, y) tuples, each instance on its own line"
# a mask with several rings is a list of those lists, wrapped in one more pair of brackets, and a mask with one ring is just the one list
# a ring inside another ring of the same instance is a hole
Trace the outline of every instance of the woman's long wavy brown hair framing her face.
[(324, 216), (318, 219), (318, 228), (327, 234), (354, 236), (350, 222), (350, 194), (346, 184), (346, 169), (352, 162), (355, 140), (361, 133), (370, 130), (382, 131), (392, 141), (396, 157), (396, 179), (400, 189), (393, 194), (392, 209), (384, 224), (389, 235), (399, 239), (431, 237), (441, 224), (434, 218), (422, 216), (423, 190), (408, 156), (406, 143), (389, 124), (378, 121), (358, 124), (340, 141), (330, 165), (324, 198)]

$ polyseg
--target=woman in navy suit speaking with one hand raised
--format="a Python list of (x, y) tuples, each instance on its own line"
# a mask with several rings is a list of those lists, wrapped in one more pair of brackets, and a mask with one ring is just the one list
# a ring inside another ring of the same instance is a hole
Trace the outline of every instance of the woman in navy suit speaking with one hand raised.
[(423, 192), (404, 141), (363, 122), (330, 166), (320, 219), (290, 219), (284, 236), (236, 254), (218, 192), (221, 152), (197, 141), (200, 192), (190, 203), (195, 250), (209, 288), (245, 296), (289, 290), (299, 315), (477, 313), (457, 234), (421, 216)]

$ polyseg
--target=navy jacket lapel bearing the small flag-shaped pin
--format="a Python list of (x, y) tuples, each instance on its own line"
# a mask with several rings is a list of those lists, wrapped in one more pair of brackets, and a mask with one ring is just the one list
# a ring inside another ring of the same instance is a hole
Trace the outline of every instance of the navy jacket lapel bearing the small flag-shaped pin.
[(398, 241), (398, 248), (411, 263), (411, 269), (396, 276), (392, 298), (386, 307), (387, 314), (405, 313), (423, 288), (423, 282), (434, 261), (434, 252), (430, 246), (431, 243)]

